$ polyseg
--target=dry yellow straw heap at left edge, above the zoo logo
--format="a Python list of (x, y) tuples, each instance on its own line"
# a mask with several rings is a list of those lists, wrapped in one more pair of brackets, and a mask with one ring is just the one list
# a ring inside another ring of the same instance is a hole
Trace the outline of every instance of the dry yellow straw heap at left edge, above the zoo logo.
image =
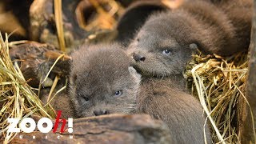
[[(26, 118), (31, 114), (54, 118), (55, 112), (42, 102), (26, 83), (18, 62), (12, 62), (9, 55), (8, 40), (4, 41), (0, 34), (0, 134), (4, 142), (10, 142), (17, 134), (7, 133), (9, 123), (7, 118)], [(14, 63), (14, 64), (13, 64)]]

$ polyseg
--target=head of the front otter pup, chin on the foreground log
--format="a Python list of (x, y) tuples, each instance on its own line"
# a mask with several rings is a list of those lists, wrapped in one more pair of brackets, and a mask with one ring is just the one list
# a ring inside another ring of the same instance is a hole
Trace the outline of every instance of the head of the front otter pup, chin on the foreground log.
[(134, 113), (140, 75), (118, 45), (83, 46), (71, 56), (70, 96), (78, 118)]

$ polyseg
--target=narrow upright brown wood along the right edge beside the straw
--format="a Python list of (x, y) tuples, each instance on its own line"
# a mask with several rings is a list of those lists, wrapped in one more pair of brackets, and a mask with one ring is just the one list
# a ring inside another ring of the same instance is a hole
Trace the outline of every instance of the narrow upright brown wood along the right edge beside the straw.
[[(246, 83), (246, 100), (240, 98), (238, 103), (238, 132), (241, 143), (255, 143), (256, 121), (256, 0), (254, 0), (254, 15), (250, 39), (249, 72)], [(250, 107), (248, 106), (248, 103)], [(250, 111), (252, 110), (252, 111)], [(252, 114), (254, 118), (252, 117)]]

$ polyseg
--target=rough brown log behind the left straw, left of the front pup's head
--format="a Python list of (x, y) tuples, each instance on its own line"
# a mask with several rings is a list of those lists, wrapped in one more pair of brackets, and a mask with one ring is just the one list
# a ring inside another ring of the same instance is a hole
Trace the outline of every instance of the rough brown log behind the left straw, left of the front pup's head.
[[(33, 87), (39, 86), (61, 54), (54, 46), (38, 42), (27, 42), (10, 49), (10, 57), (12, 60), (18, 60), (24, 78)], [(70, 71), (70, 59), (67, 55), (59, 59), (51, 74), (67, 77)], [(49, 83), (44, 83), (44, 85), (50, 86)]]

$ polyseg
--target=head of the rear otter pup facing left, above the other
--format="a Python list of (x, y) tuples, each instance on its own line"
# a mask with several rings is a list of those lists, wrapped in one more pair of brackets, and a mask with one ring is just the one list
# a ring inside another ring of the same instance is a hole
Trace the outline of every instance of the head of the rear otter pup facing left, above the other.
[(130, 43), (128, 55), (142, 75), (182, 74), (186, 62), (197, 49), (192, 28), (174, 16), (153, 15)]

